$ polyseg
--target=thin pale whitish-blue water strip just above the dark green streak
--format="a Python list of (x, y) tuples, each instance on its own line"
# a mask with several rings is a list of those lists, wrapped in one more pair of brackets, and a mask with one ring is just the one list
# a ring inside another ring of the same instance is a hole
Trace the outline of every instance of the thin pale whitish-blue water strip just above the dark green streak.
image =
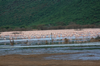
[(0, 46), (0, 48), (50, 48), (50, 47), (80, 47), (80, 46), (100, 46), (100, 42), (75, 43), (75, 44), (48, 44), (48, 45), (26, 45), (26, 46)]

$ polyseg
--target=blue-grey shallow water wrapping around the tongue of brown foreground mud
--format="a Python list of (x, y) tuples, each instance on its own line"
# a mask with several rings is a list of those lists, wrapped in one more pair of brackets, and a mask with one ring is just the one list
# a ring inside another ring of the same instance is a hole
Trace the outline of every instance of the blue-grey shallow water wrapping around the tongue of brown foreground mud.
[[(4, 45), (1, 45), (1, 46), (4, 46)], [(100, 60), (100, 46), (0, 49), (0, 55), (10, 55), (10, 54), (31, 55), (31, 54), (52, 54), (52, 53), (71, 53), (71, 54), (52, 55), (52, 56), (48, 56), (44, 58), (46, 60), (51, 60), (51, 59), (55, 59), (55, 60)]]

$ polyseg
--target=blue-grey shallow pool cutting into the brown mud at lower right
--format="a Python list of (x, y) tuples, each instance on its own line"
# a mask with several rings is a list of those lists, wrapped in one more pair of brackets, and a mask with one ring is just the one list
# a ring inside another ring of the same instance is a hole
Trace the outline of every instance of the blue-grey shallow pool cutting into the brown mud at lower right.
[(45, 57), (46, 60), (100, 60), (100, 50), (84, 51), (83, 53), (52, 55)]

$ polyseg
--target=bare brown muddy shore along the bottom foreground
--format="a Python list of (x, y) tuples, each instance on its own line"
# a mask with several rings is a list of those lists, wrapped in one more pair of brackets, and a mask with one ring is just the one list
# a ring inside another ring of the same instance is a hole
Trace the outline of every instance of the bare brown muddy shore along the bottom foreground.
[(100, 66), (100, 60), (45, 60), (44, 57), (57, 54), (38, 54), (38, 55), (6, 55), (0, 56), (0, 66)]

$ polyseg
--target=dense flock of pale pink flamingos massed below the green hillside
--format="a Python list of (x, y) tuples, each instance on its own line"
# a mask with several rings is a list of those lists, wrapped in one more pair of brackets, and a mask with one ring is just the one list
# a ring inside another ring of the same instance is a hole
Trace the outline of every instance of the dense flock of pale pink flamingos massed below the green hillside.
[(53, 39), (64, 39), (67, 38), (70, 41), (75, 40), (87, 40), (91, 38), (96, 38), (100, 36), (100, 29), (64, 29), (64, 30), (35, 30), (35, 31), (11, 31), (11, 32), (1, 32), (0, 37), (4, 40), (12, 39), (44, 39), (44, 38), (53, 38)]

